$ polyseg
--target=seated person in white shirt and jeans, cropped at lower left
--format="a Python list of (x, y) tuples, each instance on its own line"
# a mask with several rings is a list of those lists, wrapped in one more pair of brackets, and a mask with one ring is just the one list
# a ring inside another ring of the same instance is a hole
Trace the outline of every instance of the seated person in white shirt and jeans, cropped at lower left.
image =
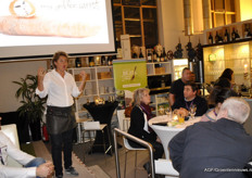
[[(1, 117), (0, 117), (1, 120)], [(8, 156), (11, 156), (20, 164), (24, 165), (21, 167), (9, 167), (7, 163)], [(51, 162), (45, 163), (41, 157), (34, 157), (25, 152), (17, 149), (12, 141), (1, 131), (0, 125), (0, 177), (48, 177), (52, 175), (54, 166)]]

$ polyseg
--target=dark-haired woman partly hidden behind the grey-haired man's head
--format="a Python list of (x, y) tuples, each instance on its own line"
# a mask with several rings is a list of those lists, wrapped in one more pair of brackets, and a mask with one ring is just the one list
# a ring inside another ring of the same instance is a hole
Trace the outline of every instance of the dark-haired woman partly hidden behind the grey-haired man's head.
[(229, 97), (238, 97), (238, 94), (230, 88), (215, 87), (209, 98), (209, 104), (213, 104), (214, 107), (210, 109), (201, 117), (201, 122), (216, 122), (218, 110), (220, 109), (223, 102)]

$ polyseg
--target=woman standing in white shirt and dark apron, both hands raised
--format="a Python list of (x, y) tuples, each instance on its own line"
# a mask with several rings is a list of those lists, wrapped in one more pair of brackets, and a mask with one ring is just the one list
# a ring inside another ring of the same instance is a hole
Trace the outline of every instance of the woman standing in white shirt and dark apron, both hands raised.
[(86, 73), (80, 72), (83, 78), (79, 87), (73, 76), (66, 72), (68, 55), (59, 51), (53, 55), (54, 69), (46, 74), (45, 68), (38, 69), (38, 88), (36, 93), (47, 99), (47, 128), (51, 138), (51, 154), (55, 167), (55, 177), (63, 177), (62, 150), (64, 153), (64, 168), (66, 174), (77, 176), (72, 167), (72, 135), (76, 127), (73, 111), (73, 97), (78, 97), (86, 84)]

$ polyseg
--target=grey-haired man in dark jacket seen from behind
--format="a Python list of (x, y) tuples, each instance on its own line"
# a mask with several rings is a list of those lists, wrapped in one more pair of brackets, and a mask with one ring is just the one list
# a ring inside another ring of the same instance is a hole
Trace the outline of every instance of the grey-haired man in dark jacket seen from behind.
[(231, 97), (220, 106), (217, 122), (200, 122), (176, 135), (168, 150), (179, 177), (244, 177), (242, 168), (252, 158), (252, 138), (242, 126), (249, 114), (249, 104)]

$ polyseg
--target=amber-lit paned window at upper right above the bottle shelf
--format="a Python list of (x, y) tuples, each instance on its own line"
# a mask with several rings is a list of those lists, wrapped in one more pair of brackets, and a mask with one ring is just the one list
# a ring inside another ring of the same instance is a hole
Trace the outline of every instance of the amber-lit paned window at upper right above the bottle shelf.
[(213, 27), (236, 23), (235, 0), (211, 0)]

